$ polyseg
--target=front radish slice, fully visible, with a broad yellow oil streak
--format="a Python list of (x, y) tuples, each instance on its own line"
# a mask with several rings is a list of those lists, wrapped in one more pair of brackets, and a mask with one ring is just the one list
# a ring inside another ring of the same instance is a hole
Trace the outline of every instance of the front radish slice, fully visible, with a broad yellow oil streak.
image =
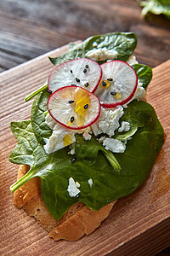
[(48, 112), (60, 124), (81, 130), (99, 118), (99, 99), (92, 92), (78, 86), (55, 90), (48, 98)]

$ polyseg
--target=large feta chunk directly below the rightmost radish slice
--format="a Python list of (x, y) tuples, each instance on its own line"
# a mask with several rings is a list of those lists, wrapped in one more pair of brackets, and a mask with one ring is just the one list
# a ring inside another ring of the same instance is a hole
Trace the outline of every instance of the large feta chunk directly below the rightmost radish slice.
[(120, 126), (119, 119), (122, 117), (123, 113), (123, 108), (121, 106), (114, 110), (101, 108), (99, 119), (91, 126), (94, 135), (98, 136), (100, 133), (106, 133), (110, 137), (113, 136), (115, 130)]

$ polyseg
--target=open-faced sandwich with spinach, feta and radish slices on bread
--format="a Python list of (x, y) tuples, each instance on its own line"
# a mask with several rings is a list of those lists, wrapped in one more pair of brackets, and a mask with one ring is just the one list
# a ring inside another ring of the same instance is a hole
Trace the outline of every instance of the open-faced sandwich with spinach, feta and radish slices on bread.
[(144, 101), (151, 68), (139, 64), (133, 32), (70, 44), (36, 96), (31, 119), (11, 123), (19, 164), (14, 205), (54, 240), (93, 232), (117, 199), (149, 176), (164, 131)]

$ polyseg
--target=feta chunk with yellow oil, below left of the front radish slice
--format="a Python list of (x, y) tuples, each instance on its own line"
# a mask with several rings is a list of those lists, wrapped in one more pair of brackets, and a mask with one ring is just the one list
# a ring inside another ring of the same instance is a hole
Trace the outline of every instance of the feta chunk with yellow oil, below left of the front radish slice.
[[(48, 124), (48, 121), (46, 119), (46, 123)], [(51, 122), (50, 122), (51, 125)], [(71, 143), (76, 142), (76, 137), (74, 131), (71, 131), (70, 129), (65, 128), (62, 125), (59, 125), (59, 123), (56, 122), (54, 125), (54, 131), (52, 135), (49, 137), (47, 143), (44, 145), (45, 152), (47, 154), (51, 154), (60, 148), (65, 148), (65, 144), (63, 139), (66, 135), (71, 136)]]

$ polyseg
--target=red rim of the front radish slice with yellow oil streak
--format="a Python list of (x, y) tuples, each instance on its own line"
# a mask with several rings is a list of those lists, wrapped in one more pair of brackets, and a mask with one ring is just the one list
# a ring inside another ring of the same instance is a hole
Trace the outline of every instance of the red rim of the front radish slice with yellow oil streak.
[[(73, 88), (77, 88), (77, 87), (78, 87), (78, 86), (69, 85), (69, 86), (65, 86), (65, 87), (60, 87), (58, 90), (55, 90), (55, 91), (48, 97), (47, 106), (48, 106), (48, 103), (49, 103), (49, 100), (50, 100), (51, 96), (54, 96), (54, 94), (55, 94), (56, 92), (58, 93), (59, 90), (65, 90), (65, 88), (66, 88), (66, 89), (68, 89), (68, 88), (72, 88), (72, 89), (73, 89)], [(84, 88), (82, 88), (82, 87), (79, 87), (79, 88), (81, 88), (82, 90), (86, 90), (86, 89), (84, 89)], [(98, 102), (99, 102), (99, 98), (98, 98), (97, 96), (95, 96), (93, 92), (91, 92), (91, 91), (89, 91), (89, 90), (86, 90), (86, 91), (88, 91), (90, 94), (92, 94), (92, 95), (98, 100)], [(52, 117), (56, 122), (59, 123), (59, 125), (63, 125), (63, 126), (65, 126), (67, 129), (70, 129), (70, 130), (82, 130), (82, 129), (87, 128), (88, 126), (93, 125), (93, 124), (95, 123), (95, 121), (96, 121), (97, 119), (99, 119), (100, 110), (101, 110), (101, 104), (100, 104), (100, 102), (99, 102), (99, 113), (98, 113), (98, 115), (95, 117), (95, 119), (92, 120), (89, 125), (82, 125), (82, 126), (79, 126), (79, 127), (71, 127), (71, 126), (68, 126), (68, 125), (65, 125), (65, 124), (61, 123), (59, 120), (57, 120), (57, 119), (54, 118), (53, 114), (50, 112), (49, 109), (48, 109), (48, 113), (51, 115), (51, 117)]]

